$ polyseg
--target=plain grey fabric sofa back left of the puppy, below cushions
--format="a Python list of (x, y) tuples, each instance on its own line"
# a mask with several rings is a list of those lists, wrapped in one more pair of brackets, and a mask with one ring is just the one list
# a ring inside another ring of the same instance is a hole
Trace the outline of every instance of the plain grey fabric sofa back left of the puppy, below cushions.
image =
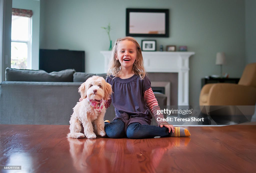
[(0, 84), (1, 124), (68, 125), (79, 101), (74, 82), (11, 82)]

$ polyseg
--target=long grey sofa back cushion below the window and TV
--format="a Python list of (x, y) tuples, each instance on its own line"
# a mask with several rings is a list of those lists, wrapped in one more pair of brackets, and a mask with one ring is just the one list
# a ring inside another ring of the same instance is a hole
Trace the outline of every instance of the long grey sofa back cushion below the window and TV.
[(73, 82), (74, 69), (53, 71), (47, 73), (44, 70), (5, 69), (6, 81), (29, 81), (29, 82)]

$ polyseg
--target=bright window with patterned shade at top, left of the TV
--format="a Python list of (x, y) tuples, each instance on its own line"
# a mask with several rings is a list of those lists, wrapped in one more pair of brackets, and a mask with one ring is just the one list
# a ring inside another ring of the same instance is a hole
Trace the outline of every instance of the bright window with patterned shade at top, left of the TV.
[(11, 68), (31, 69), (31, 16), (31, 10), (13, 8)]

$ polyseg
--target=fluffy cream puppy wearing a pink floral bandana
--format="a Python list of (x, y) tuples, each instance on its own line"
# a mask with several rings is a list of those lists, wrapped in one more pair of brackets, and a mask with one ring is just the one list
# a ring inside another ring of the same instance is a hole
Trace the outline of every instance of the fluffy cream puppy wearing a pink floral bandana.
[[(105, 136), (104, 115), (106, 112), (104, 101), (108, 100), (112, 94), (112, 88), (104, 78), (93, 76), (82, 83), (78, 89), (83, 100), (77, 102), (73, 108), (70, 118), (70, 133), (67, 137), (95, 139), (96, 132), (100, 136)], [(94, 126), (94, 132), (93, 132)], [(81, 133), (84, 131), (84, 134)]]

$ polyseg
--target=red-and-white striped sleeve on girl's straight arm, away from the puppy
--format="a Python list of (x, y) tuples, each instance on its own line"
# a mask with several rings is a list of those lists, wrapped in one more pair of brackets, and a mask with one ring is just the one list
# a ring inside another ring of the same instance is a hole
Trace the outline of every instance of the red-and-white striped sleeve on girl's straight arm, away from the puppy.
[(160, 107), (158, 106), (157, 100), (155, 98), (155, 95), (152, 91), (152, 88), (150, 87), (148, 90), (144, 92), (144, 99), (146, 101), (147, 106), (149, 107), (149, 110), (152, 112), (157, 124), (166, 122), (166, 121), (157, 121), (161, 118), (164, 118), (163, 114), (157, 115), (157, 110), (160, 110)]

